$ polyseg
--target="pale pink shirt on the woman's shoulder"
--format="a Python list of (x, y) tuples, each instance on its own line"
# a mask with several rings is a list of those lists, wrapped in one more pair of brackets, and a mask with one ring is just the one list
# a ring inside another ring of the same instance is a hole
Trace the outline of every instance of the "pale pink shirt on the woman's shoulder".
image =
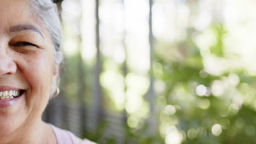
[(49, 125), (54, 131), (54, 134), (57, 139), (57, 144), (96, 144), (86, 139), (81, 140), (68, 130), (57, 128), (52, 124)]

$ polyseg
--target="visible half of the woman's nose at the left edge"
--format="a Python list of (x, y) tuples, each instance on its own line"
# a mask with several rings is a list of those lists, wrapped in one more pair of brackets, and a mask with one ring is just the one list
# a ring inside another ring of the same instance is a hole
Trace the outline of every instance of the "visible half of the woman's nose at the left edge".
[(16, 63), (13, 61), (13, 57), (8, 55), (8, 52), (0, 51), (0, 76), (10, 75), (16, 72)]

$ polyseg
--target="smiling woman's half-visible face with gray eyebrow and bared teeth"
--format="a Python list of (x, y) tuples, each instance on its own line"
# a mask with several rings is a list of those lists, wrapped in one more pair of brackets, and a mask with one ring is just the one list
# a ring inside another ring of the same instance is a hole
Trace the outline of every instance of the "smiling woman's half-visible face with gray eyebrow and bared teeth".
[(53, 91), (51, 83), (57, 69), (50, 34), (34, 18), (27, 2), (0, 0), (0, 3), (0, 95), (8, 91), (18, 96), (0, 97), (2, 137), (20, 133), (40, 121)]

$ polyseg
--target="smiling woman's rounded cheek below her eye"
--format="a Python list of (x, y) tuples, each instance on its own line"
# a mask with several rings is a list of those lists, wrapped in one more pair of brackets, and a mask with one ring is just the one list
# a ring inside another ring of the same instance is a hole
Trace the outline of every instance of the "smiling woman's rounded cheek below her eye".
[(53, 74), (53, 58), (50, 56), (46, 53), (29, 53), (20, 55), (19, 61), (16, 62), (21, 74), (29, 83), (32, 93), (37, 92), (43, 96), (49, 92)]

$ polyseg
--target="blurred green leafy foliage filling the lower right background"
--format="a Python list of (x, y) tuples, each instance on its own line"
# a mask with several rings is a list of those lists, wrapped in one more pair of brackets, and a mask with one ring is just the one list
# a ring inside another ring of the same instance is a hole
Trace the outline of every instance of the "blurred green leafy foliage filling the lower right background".
[[(224, 28), (220, 24), (213, 27), (217, 42), (211, 46), (211, 53), (225, 57)], [(204, 71), (200, 50), (192, 39), (194, 32), (188, 29), (187, 38), (176, 45), (156, 42), (155, 46), (162, 50), (155, 53), (155, 79), (165, 85), (156, 98), (159, 131), (155, 136), (147, 135), (146, 120), (138, 129), (125, 125), (125, 143), (168, 143), (161, 134), (168, 127), (169, 131), (176, 128), (174, 131), (182, 135), (182, 143), (256, 143), (255, 76), (248, 76), (243, 69), (225, 71), (218, 76), (208, 74)], [(181, 59), (174, 58), (177, 51), (182, 55)], [(232, 85), (232, 76), (238, 79), (235, 85)], [(214, 91), (214, 81), (223, 89), (217, 96), (211, 92)], [(207, 96), (196, 94), (199, 85), (210, 91)], [(168, 105), (174, 107), (174, 113), (166, 112)], [(221, 125), (219, 135), (213, 134), (214, 124)], [(97, 134), (86, 136), (98, 141), (106, 130), (104, 128), (106, 125), (103, 124)], [(115, 137), (104, 142), (115, 143)]]

